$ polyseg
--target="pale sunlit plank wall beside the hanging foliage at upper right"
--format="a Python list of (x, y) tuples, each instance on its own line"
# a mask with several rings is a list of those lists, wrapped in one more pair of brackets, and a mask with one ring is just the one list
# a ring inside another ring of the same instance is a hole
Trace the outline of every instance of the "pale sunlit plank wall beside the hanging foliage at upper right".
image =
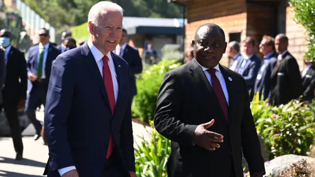
[(295, 57), (302, 71), (304, 51), (308, 45), (307, 35), (302, 25), (294, 21), (294, 12), (291, 7), (286, 8), (286, 36), (289, 39), (288, 51)]

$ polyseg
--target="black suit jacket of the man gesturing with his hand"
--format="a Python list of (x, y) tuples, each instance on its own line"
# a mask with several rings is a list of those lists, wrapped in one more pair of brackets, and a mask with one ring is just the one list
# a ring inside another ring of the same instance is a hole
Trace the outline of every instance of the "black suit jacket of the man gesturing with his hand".
[[(231, 171), (241, 177), (242, 149), (250, 172), (265, 171), (246, 82), (240, 74), (219, 66), (228, 91), (229, 121), (195, 59), (164, 76), (154, 123), (157, 131), (172, 141), (169, 177), (229, 177)], [(208, 130), (223, 135), (221, 147), (208, 151), (192, 145), (197, 125), (212, 119), (215, 123)]]

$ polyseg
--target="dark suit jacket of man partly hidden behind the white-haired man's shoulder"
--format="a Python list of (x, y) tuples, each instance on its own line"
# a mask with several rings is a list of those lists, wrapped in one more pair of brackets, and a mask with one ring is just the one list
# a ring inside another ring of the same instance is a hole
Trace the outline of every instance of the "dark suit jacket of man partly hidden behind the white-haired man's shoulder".
[(129, 65), (129, 76), (130, 76), (130, 95), (137, 95), (136, 78), (134, 74), (142, 72), (142, 60), (139, 55), (139, 51), (133, 47), (126, 45), (124, 53), (121, 56)]

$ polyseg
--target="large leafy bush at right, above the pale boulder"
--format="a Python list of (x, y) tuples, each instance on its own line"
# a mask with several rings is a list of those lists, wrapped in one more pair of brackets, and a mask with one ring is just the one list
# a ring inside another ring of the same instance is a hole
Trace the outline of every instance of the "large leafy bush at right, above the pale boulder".
[(315, 119), (310, 106), (291, 101), (275, 107), (261, 105), (252, 110), (257, 132), (270, 150), (270, 160), (285, 154), (308, 154), (315, 135), (309, 126)]

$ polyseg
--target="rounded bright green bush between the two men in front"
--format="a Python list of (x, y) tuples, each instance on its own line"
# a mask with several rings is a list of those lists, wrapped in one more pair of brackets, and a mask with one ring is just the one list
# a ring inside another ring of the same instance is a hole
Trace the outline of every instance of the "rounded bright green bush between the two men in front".
[(138, 94), (133, 99), (132, 111), (145, 122), (153, 120), (157, 107), (158, 89), (166, 72), (179, 67), (177, 60), (163, 60), (150, 66), (137, 79)]

